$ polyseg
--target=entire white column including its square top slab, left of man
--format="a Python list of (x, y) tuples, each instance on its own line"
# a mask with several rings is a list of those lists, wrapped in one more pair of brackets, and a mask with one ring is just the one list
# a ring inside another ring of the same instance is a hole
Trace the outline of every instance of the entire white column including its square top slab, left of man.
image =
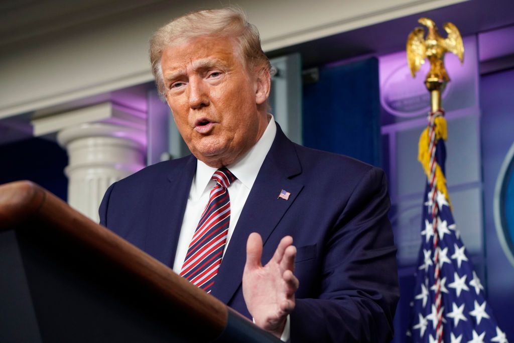
[(107, 188), (145, 166), (146, 113), (106, 101), (31, 123), (34, 136), (57, 133), (68, 152), (68, 203), (96, 222)]

